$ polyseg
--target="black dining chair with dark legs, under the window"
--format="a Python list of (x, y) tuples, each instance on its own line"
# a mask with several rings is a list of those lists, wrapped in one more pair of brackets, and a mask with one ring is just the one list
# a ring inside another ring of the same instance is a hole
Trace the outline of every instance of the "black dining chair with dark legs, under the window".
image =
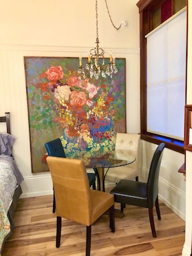
[(118, 184), (110, 192), (114, 195), (114, 201), (121, 204), (121, 211), (123, 211), (125, 204), (149, 209), (149, 220), (153, 237), (156, 237), (153, 217), (154, 203), (158, 220), (161, 219), (158, 204), (158, 178), (164, 147), (165, 144), (161, 143), (155, 150), (153, 159), (151, 161), (147, 182), (120, 180), (120, 182), (118, 182)]

